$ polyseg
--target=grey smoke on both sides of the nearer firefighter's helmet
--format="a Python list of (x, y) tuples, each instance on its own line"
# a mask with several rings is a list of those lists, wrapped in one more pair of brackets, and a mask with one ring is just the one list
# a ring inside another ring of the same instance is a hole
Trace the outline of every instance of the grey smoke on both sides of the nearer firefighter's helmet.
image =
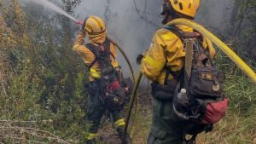
[[(213, 32), (223, 32), (226, 20), (230, 19), (232, 3), (232, 0), (202, 0), (196, 21)], [(89, 15), (106, 20), (108, 33), (125, 49), (137, 68), (137, 55), (149, 48), (154, 32), (161, 26), (161, 4), (162, 0), (86, 0), (76, 9), (76, 14), (82, 20)]]

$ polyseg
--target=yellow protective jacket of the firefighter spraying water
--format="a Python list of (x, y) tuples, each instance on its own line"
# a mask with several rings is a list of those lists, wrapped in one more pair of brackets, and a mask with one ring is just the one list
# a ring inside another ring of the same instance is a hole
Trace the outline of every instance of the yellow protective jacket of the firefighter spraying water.
[[(85, 34), (83, 32), (79, 32), (78, 36), (76, 37), (73, 50), (75, 50), (82, 60), (84, 61), (85, 66), (90, 66), (90, 64), (96, 59), (96, 56), (90, 51), (90, 49), (86, 48), (84, 45), (84, 37)], [(89, 43), (103, 43), (106, 40), (106, 35), (102, 37), (89, 37)], [(115, 60), (117, 53), (115, 51), (115, 47), (113, 43), (110, 44), (110, 52), (113, 56), (110, 56), (111, 64), (113, 67), (119, 66), (117, 60)], [(101, 68), (98, 62), (90, 68), (90, 75), (89, 81), (94, 81), (96, 78), (101, 78)]]

